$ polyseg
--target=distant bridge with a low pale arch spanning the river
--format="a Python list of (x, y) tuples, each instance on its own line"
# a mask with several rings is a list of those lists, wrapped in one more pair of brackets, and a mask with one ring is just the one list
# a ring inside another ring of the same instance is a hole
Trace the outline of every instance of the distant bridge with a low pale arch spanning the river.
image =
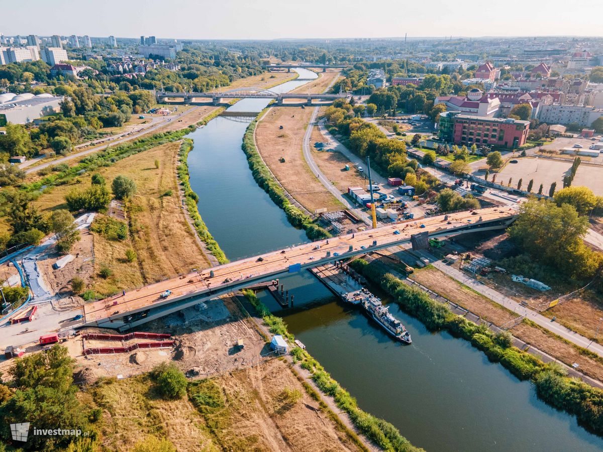
[(314, 99), (321, 101), (333, 102), (335, 99), (347, 98), (347, 93), (338, 94), (309, 94), (309, 93), (277, 93), (268, 89), (263, 88), (236, 88), (224, 92), (212, 92), (212, 93), (169, 93), (169, 92), (157, 92), (157, 103), (161, 104), (165, 99), (183, 99), (185, 104), (192, 104), (194, 99), (212, 99), (213, 105), (219, 105), (222, 99), (274, 99), (277, 105), (283, 105), (285, 99), (303, 99), (306, 101), (306, 105), (312, 105)]

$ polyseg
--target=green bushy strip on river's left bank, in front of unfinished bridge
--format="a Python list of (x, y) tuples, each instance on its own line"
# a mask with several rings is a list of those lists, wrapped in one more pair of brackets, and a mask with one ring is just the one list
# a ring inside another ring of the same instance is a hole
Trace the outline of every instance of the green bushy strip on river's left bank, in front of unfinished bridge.
[[(292, 341), (294, 336), (287, 331), (287, 326), (283, 319), (273, 315), (270, 310), (256, 297), (253, 290), (246, 290), (245, 297), (256, 309), (258, 315), (262, 316), (264, 322), (270, 328), (270, 332), (281, 334)], [(339, 409), (350, 416), (353, 424), (359, 432), (365, 435), (370, 441), (384, 450), (393, 451), (420, 451), (415, 448), (408, 439), (404, 438), (399, 430), (383, 419), (363, 411), (356, 404), (356, 399), (350, 395), (346, 389), (342, 388), (337, 381), (333, 380), (323, 366), (318, 363), (307, 351), (301, 348), (292, 350), (295, 362), (301, 362), (301, 367), (308, 370), (312, 375), (312, 380), (324, 394), (333, 397)]]

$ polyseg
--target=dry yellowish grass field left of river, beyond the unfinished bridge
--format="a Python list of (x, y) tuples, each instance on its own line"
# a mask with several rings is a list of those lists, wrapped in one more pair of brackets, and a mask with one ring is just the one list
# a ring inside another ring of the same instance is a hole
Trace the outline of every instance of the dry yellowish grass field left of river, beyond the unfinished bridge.
[[(137, 193), (128, 207), (127, 240), (108, 240), (95, 234), (95, 271), (103, 266), (113, 271), (107, 279), (95, 277), (94, 289), (98, 292), (112, 293), (209, 266), (178, 198), (175, 166), (179, 146), (180, 142), (166, 143), (99, 169), (109, 185), (118, 175), (133, 179)], [(159, 160), (159, 169), (155, 168), (155, 160)], [(43, 193), (36, 206), (42, 212), (65, 208), (65, 195), (71, 189), (90, 185), (90, 175), (78, 180)], [(137, 253), (134, 262), (125, 259), (128, 248)]]

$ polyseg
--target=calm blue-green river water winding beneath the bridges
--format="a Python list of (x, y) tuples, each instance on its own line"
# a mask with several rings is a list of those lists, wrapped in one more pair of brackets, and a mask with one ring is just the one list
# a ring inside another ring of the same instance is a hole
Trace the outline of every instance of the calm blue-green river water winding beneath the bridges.
[[(290, 91), (317, 77), (307, 69), (297, 71), (297, 80), (271, 90)], [(244, 99), (229, 110), (261, 111), (267, 104)], [(199, 195), (199, 212), (230, 260), (308, 240), (253, 180), (241, 150), (247, 125), (218, 117), (189, 134), (194, 140), (188, 157), (191, 187)], [(603, 439), (538, 400), (529, 382), (488, 362), (469, 342), (429, 333), (390, 304), (412, 334), (412, 345), (404, 346), (360, 310), (338, 301), (311, 274), (281, 281), (295, 296), (295, 308), (281, 310), (262, 294), (264, 303), (279, 311), (289, 331), (362, 409), (396, 425), (414, 445), (429, 451), (603, 450)]]

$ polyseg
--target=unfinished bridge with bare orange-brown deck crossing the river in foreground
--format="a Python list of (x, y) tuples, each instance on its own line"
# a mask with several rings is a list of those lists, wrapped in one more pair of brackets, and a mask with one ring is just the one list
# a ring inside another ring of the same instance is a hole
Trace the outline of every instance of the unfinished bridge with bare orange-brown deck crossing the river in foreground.
[[(123, 331), (251, 284), (357, 256), (367, 251), (408, 243), (412, 234), (428, 231), (430, 237), (444, 237), (472, 231), (502, 229), (516, 217), (517, 211), (514, 208), (490, 207), (475, 212), (456, 212), (446, 216), (391, 224), (329, 240), (291, 246), (285, 250), (237, 260), (130, 290), (125, 295), (120, 294), (86, 304), (83, 323), (79, 326), (115, 328)], [(162, 298), (161, 294), (166, 290), (169, 290), (171, 295)]]

